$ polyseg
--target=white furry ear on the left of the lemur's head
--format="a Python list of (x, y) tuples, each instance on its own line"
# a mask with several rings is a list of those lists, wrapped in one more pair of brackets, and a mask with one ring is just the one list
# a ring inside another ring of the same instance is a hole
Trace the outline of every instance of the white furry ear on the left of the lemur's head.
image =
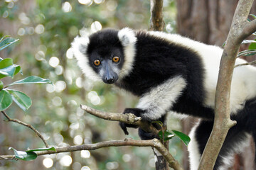
[(89, 44), (88, 37), (78, 37), (78, 36), (71, 43), (73, 51), (81, 52), (82, 54), (86, 53), (88, 44)]

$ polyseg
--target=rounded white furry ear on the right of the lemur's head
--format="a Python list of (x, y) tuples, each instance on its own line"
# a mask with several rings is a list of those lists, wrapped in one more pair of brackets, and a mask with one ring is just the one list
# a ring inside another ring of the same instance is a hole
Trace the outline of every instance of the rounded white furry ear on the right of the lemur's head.
[(124, 46), (132, 45), (137, 41), (134, 30), (131, 28), (123, 28), (122, 30), (119, 30), (118, 38)]

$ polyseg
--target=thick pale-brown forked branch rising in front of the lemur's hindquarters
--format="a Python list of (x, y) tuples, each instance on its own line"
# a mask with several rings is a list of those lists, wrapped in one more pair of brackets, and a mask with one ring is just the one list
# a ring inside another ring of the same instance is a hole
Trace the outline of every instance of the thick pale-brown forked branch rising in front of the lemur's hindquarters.
[(213, 169), (228, 130), (235, 125), (230, 120), (230, 86), (235, 59), (240, 43), (256, 31), (255, 21), (247, 22), (253, 0), (240, 0), (235, 10), (230, 32), (220, 62), (220, 72), (215, 94), (215, 119), (213, 131), (201, 157), (198, 169)]

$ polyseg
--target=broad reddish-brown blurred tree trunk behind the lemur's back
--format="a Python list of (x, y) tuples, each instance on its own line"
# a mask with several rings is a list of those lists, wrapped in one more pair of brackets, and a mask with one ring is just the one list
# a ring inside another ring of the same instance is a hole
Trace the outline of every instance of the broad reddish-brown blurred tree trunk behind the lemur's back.
[[(235, 13), (238, 0), (235, 1), (207, 1), (207, 0), (178, 0), (177, 4), (177, 32), (210, 45), (222, 46), (228, 36), (231, 21)], [(256, 3), (251, 13), (255, 14)], [(252, 60), (250, 58), (250, 60)], [(255, 57), (254, 57), (255, 60)], [(193, 123), (183, 123), (183, 131), (188, 132)], [(251, 145), (242, 154), (234, 157), (231, 169), (256, 169), (254, 163), (255, 148)], [(186, 148), (185, 148), (186, 149)], [(184, 154), (187, 152), (184, 151)], [(184, 156), (183, 164), (188, 164), (188, 156)], [(248, 161), (251, 160), (251, 161)], [(184, 167), (188, 169), (188, 167)]]

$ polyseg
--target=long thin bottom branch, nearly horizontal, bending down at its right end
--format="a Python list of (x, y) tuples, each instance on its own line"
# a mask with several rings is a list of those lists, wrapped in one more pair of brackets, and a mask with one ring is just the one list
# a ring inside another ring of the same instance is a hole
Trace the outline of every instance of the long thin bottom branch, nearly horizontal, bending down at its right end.
[[(103, 147), (122, 147), (122, 146), (134, 146), (134, 147), (154, 147), (156, 148), (169, 162), (169, 166), (173, 169), (181, 170), (181, 166), (178, 164), (176, 159), (172, 157), (169, 151), (161, 144), (161, 142), (157, 139), (153, 140), (132, 140), (132, 139), (125, 139), (125, 140), (112, 140), (112, 141), (105, 141), (105, 142), (98, 142), (95, 144), (85, 144), (85, 145), (76, 145), (76, 146), (68, 146), (68, 147), (58, 147), (55, 148), (55, 151), (41, 151), (36, 152), (38, 156), (45, 155), (45, 154), (57, 154), (61, 152), (75, 152), (81, 150), (95, 150), (100, 149)], [(0, 159), (15, 159), (14, 155), (0, 155)]]

